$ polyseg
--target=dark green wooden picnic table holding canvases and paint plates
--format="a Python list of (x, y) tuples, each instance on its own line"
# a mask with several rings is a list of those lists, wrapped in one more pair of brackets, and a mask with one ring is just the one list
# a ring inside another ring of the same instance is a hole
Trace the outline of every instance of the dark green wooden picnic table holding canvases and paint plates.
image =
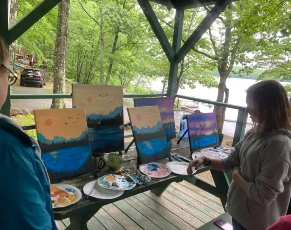
[[(190, 158), (190, 149), (189, 149), (188, 140), (182, 140), (180, 144), (177, 144), (177, 139), (173, 140), (171, 152), (179, 153), (182, 156)], [(120, 158), (120, 167), (135, 166), (136, 159), (137, 159), (136, 150), (134, 147), (132, 147), (127, 153), (124, 153), (123, 156)], [(168, 159), (161, 159), (158, 162), (167, 163)], [(200, 168), (197, 170), (195, 174), (199, 174), (207, 170), (210, 170), (210, 168), (208, 167)], [(125, 199), (127, 197), (134, 196), (142, 192), (146, 192), (148, 190), (151, 190), (151, 192), (153, 192), (157, 196), (161, 196), (161, 194), (167, 189), (167, 187), (172, 182), (181, 182), (182, 180), (186, 180), (190, 183), (193, 183), (197, 185), (198, 187), (201, 187), (204, 190), (220, 197), (222, 205), (224, 206), (226, 202), (226, 194), (227, 194), (227, 190), (229, 186), (228, 177), (223, 172), (213, 170), (213, 169), (211, 169), (210, 171), (214, 178), (215, 187), (196, 177), (176, 175), (174, 173), (171, 173), (166, 178), (161, 178), (159, 180), (151, 180), (149, 185), (147, 186), (137, 184), (133, 189), (124, 191), (123, 195), (114, 199), (97, 199), (93, 197), (86, 198), (87, 195), (85, 195), (82, 192), (82, 198), (79, 202), (67, 207), (54, 209), (55, 220), (63, 220), (66, 218), (70, 218), (71, 224), (66, 229), (87, 230), (87, 222), (91, 219), (91, 217), (93, 217), (93, 215), (96, 212), (98, 212), (98, 210), (102, 206)], [(109, 173), (109, 169), (106, 166), (99, 172), (99, 176), (102, 176), (108, 173)], [(76, 177), (74, 179), (57, 181), (57, 183), (71, 184), (82, 191), (83, 186), (93, 180), (97, 180), (97, 178), (94, 177), (93, 173), (88, 173), (88, 174), (84, 174), (79, 177)], [(56, 183), (56, 182), (52, 181), (52, 183)]]

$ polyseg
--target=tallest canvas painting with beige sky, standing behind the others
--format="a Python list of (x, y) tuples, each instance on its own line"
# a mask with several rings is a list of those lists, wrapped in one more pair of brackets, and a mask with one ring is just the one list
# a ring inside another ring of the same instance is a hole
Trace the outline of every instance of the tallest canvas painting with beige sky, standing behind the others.
[(72, 84), (74, 108), (85, 108), (92, 154), (124, 150), (122, 86)]

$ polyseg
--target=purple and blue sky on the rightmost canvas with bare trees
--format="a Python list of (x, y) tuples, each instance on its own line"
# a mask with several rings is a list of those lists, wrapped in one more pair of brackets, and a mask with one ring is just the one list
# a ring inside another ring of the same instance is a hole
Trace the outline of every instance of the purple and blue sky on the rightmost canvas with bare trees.
[(210, 135), (213, 133), (211, 129), (217, 127), (215, 113), (190, 114), (188, 115), (188, 128), (190, 130), (190, 135), (195, 134), (194, 130), (196, 130), (197, 127), (199, 128), (198, 133), (200, 134), (200, 122), (205, 124), (205, 129), (201, 134)]

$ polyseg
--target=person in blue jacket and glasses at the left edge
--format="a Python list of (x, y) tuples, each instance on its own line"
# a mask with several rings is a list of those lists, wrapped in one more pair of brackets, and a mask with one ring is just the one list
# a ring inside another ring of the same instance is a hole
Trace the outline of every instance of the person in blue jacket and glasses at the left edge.
[[(0, 109), (17, 76), (8, 68), (0, 37)], [(0, 114), (0, 229), (57, 230), (50, 181), (40, 147), (12, 119)]]

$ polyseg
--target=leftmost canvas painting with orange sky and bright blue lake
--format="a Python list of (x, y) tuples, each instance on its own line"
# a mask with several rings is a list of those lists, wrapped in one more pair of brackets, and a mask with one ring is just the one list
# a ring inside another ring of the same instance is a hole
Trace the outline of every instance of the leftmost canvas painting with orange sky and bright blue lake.
[(84, 108), (37, 109), (34, 119), (51, 180), (93, 171)]

